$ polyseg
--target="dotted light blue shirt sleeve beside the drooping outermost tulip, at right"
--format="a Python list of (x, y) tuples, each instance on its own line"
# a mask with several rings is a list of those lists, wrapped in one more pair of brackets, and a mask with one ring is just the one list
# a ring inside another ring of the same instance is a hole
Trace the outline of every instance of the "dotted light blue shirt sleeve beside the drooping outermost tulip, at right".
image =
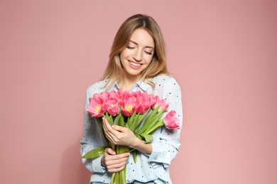
[[(174, 110), (176, 112), (176, 117), (180, 121), (179, 130), (168, 130), (165, 126), (156, 130), (153, 134), (155, 136), (152, 144), (152, 153), (148, 158), (148, 161), (151, 162), (153, 168), (161, 166), (167, 168), (170, 166), (170, 162), (175, 159), (175, 156), (178, 154), (180, 146), (180, 132), (183, 125), (183, 108), (181, 100), (181, 91), (180, 86), (174, 78), (168, 77), (162, 81), (158, 81), (156, 86), (161, 86), (156, 89), (156, 92), (165, 99), (168, 103), (168, 111), (164, 113), (163, 117)], [(158, 165), (157, 165), (158, 164)]]

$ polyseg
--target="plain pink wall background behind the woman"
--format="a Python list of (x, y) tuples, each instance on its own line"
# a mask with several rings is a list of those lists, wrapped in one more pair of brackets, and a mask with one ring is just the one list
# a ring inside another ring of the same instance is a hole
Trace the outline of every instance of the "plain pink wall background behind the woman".
[(173, 183), (277, 183), (277, 1), (0, 1), (0, 183), (89, 183), (85, 91), (119, 25), (161, 25), (183, 92)]

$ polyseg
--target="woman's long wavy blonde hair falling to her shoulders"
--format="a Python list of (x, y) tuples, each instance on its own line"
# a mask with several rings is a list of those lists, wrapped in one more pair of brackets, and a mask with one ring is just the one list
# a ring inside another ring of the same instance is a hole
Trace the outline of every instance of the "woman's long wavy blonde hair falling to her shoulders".
[(131, 35), (138, 28), (148, 31), (153, 37), (155, 44), (153, 59), (147, 69), (142, 72), (141, 80), (155, 88), (153, 82), (150, 81), (151, 78), (161, 74), (169, 75), (166, 63), (165, 41), (158, 23), (151, 16), (136, 14), (126, 19), (116, 33), (109, 54), (109, 62), (102, 76), (102, 80), (109, 79), (104, 87), (110, 88), (123, 78), (123, 68), (119, 54), (128, 46)]

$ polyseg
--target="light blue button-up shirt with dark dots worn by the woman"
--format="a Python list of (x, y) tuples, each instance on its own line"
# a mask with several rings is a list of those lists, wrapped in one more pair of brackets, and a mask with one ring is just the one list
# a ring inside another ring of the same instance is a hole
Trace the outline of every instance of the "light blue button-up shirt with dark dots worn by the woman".
[[(182, 129), (183, 109), (180, 86), (171, 76), (156, 76), (151, 81), (156, 85), (154, 91), (149, 84), (139, 81), (134, 84), (130, 92), (147, 91), (148, 94), (165, 99), (169, 103), (169, 106), (168, 111), (164, 113), (163, 117), (170, 110), (175, 110), (176, 117), (180, 120), (180, 127)], [(107, 89), (103, 88), (106, 83), (107, 81), (99, 81), (87, 88), (84, 110), (84, 130), (80, 141), (82, 156), (92, 149), (105, 145), (104, 138), (99, 131), (95, 118), (91, 117), (86, 110), (87, 105), (89, 105), (89, 98), (94, 93), (107, 91)], [(113, 90), (119, 90), (116, 84), (108, 91)], [(149, 181), (154, 181), (154, 183), (172, 183), (169, 176), (169, 166), (179, 151), (181, 129), (168, 130), (165, 126), (162, 126), (152, 134), (153, 142), (151, 144), (153, 149), (151, 154), (143, 154), (138, 151), (136, 163), (134, 163), (133, 155), (131, 154), (126, 163), (126, 183), (133, 183), (134, 181), (141, 183)], [(109, 173), (106, 168), (101, 166), (101, 158), (102, 156), (97, 159), (82, 159), (82, 163), (92, 172), (91, 182), (110, 183), (112, 173)]]

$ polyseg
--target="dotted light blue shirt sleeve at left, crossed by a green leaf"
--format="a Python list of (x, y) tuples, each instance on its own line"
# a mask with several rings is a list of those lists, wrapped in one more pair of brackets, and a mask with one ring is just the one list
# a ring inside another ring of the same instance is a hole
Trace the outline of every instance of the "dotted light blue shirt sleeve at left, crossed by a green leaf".
[[(91, 93), (91, 91), (90, 91)], [(96, 149), (99, 146), (105, 146), (104, 138), (99, 130), (98, 123), (94, 117), (91, 117), (87, 113), (87, 105), (89, 105), (89, 88), (87, 89), (87, 94), (85, 98), (85, 108), (84, 108), (84, 127), (82, 131), (82, 139), (80, 140), (80, 152), (84, 156), (88, 151)], [(82, 159), (84, 166), (91, 172), (94, 173), (105, 173), (107, 172), (104, 167), (101, 166), (102, 156), (96, 159)]]

